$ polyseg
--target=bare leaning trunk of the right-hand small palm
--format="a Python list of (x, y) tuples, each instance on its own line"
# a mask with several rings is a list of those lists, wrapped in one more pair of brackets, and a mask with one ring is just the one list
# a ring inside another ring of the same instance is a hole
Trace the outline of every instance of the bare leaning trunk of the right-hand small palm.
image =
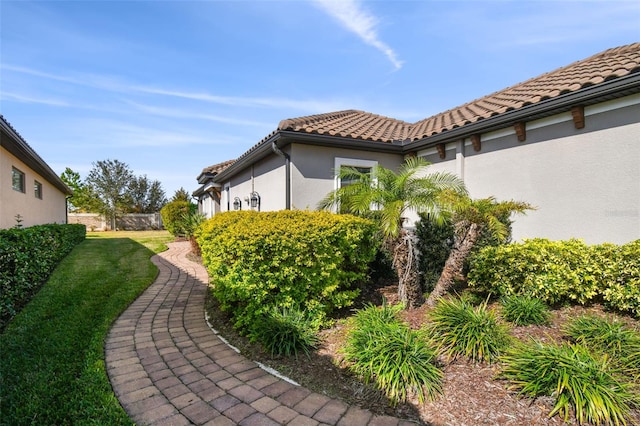
[(476, 241), (478, 241), (480, 231), (480, 226), (472, 223), (461, 238), (456, 238), (455, 245), (444, 264), (440, 278), (427, 299), (428, 306), (434, 306), (438, 299), (451, 290), (456, 280), (462, 278), (464, 262), (469, 257)]

